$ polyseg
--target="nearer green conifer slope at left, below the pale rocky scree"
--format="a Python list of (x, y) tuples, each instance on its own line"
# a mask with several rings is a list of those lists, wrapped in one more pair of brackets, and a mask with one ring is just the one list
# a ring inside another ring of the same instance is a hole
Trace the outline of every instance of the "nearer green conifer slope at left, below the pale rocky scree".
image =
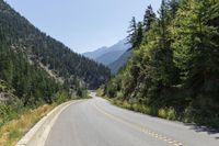
[(11, 102), (18, 97), (24, 105), (51, 103), (55, 93), (60, 90), (68, 91), (37, 66), (36, 61), (30, 64), (27, 56), (21, 49), (10, 47), (2, 40), (0, 41), (0, 101)]

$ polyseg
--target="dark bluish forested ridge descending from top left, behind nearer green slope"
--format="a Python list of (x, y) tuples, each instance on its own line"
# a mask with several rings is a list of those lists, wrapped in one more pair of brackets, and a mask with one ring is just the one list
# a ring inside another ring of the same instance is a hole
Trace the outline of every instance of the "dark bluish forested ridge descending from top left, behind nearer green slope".
[(0, 0), (0, 36), (14, 52), (22, 52), (30, 63), (41, 63), (66, 81), (77, 78), (93, 89), (110, 77), (106, 67), (71, 52), (62, 43), (42, 33), (3, 0)]

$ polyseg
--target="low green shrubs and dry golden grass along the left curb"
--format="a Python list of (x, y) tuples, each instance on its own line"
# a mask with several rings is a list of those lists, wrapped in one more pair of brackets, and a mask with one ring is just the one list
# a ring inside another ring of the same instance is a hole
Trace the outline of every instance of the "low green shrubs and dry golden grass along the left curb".
[(37, 106), (24, 106), (19, 100), (11, 104), (0, 103), (0, 146), (15, 145), (35, 123), (54, 108), (69, 100), (81, 99), (81, 97), (67, 98), (67, 96), (64, 92), (57, 93), (56, 100), (51, 104), (44, 103)]

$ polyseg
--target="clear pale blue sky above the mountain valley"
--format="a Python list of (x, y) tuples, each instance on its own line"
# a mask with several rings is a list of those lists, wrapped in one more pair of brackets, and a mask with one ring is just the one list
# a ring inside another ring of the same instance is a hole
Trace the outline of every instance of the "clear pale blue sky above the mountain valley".
[(5, 0), (36, 27), (84, 53), (111, 46), (127, 35), (131, 16), (157, 11), (161, 0)]

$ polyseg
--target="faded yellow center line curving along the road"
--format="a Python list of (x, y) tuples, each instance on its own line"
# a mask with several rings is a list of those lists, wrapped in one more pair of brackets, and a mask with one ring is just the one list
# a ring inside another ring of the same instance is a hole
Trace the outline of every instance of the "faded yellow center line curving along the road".
[(147, 134), (147, 135), (150, 135), (151, 137), (154, 137), (154, 138), (157, 138), (157, 139), (163, 141), (163, 142), (168, 143), (168, 144), (171, 145), (171, 146), (185, 146), (185, 145), (182, 144), (181, 142), (177, 142), (177, 141), (172, 139), (172, 138), (170, 138), (170, 137), (168, 137), (168, 136), (158, 134), (158, 133), (155, 133), (154, 131), (151, 131), (151, 130), (149, 130), (149, 128), (147, 128), (147, 127), (143, 127), (143, 126), (137, 124), (137, 123), (132, 123), (132, 122), (129, 122), (129, 121), (127, 121), (127, 120), (125, 120), (125, 119), (123, 119), (123, 117), (119, 117), (119, 116), (110, 114), (108, 112), (106, 112), (105, 110), (103, 110), (102, 108), (100, 108), (100, 106), (96, 104), (96, 102), (94, 103), (94, 106), (95, 106), (96, 110), (99, 110), (101, 113), (103, 113), (103, 114), (106, 115), (107, 117), (110, 117), (110, 119), (112, 119), (112, 120), (115, 120), (115, 121), (117, 121), (117, 122), (120, 122), (120, 123), (123, 123), (123, 124), (125, 124), (125, 125), (127, 125), (127, 126), (129, 126), (129, 127), (131, 127), (131, 128), (135, 128), (135, 130), (138, 131), (138, 132), (142, 132), (142, 133), (145, 133), (145, 134)]

